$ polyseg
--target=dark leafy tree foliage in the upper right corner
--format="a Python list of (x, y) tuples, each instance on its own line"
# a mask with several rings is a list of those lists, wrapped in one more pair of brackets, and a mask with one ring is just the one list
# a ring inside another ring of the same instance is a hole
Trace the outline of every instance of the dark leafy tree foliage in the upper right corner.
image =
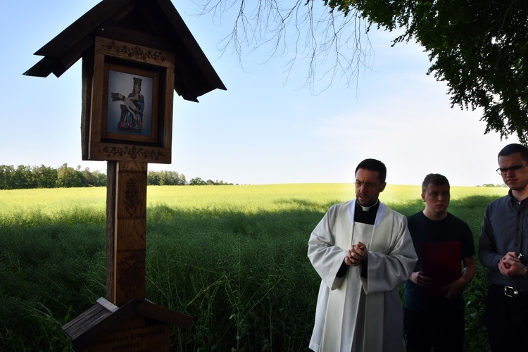
[[(310, 0), (312, 1), (312, 0)], [(451, 103), (482, 108), (486, 133), (528, 142), (528, 2), (522, 0), (325, 0), (370, 25), (417, 40), (429, 73), (448, 84)]]

